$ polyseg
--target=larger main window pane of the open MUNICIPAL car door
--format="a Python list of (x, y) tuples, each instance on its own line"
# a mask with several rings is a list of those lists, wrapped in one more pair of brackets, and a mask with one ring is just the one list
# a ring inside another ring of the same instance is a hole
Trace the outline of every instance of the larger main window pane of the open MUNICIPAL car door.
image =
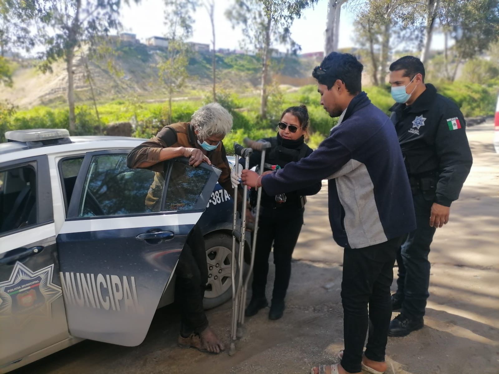
[(79, 202), (78, 216), (122, 215), (160, 210), (163, 173), (129, 169), (126, 154), (93, 156)]

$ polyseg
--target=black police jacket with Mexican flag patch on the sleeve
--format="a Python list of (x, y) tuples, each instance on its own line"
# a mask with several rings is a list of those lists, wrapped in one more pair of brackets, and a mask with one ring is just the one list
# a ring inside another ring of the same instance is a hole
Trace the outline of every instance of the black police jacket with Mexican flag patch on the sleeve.
[(466, 122), (458, 106), (437, 93), (432, 84), (412, 105), (390, 108), (407, 173), (438, 175), (435, 202), (451, 206), (457, 200), (473, 163)]

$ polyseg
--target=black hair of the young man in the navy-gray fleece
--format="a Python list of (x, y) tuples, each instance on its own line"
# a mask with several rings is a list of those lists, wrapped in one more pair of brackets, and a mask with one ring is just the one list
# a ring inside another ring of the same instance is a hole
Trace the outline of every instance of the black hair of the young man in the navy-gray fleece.
[(336, 80), (345, 83), (347, 91), (356, 95), (362, 90), (362, 69), (364, 66), (350, 53), (329, 53), (312, 71), (312, 77), (330, 90)]

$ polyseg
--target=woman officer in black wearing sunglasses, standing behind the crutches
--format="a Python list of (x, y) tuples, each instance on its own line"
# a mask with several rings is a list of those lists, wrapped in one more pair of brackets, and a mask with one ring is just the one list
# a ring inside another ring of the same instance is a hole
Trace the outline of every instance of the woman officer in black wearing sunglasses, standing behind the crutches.
[[(286, 164), (296, 162), (312, 153), (312, 149), (304, 142), (308, 123), (308, 111), (304, 105), (289, 107), (282, 113), (276, 137), (263, 139), (272, 145), (265, 155), (266, 171), (270, 170), (269, 164), (283, 168)], [(249, 168), (259, 165), (260, 157), (259, 151), (253, 151)], [(233, 186), (239, 184), (239, 177), (235, 171), (232, 172)], [(321, 183), (318, 182), (309, 187), (288, 192), (285, 194), (285, 199), (276, 199), (275, 196), (262, 191), (252, 296), (245, 311), (246, 316), (253, 316), (258, 310), (268, 305), (265, 298), (265, 285), (268, 256), (273, 242), (275, 279), (268, 318), (276, 320), (282, 317), (284, 297), (291, 276), (291, 255), (303, 224), (305, 196), (316, 194), (320, 187)]]

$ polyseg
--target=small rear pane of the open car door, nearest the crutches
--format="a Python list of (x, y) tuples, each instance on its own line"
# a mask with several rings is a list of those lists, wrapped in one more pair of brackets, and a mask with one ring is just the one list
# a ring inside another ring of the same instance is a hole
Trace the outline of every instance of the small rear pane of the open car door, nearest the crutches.
[(166, 191), (165, 210), (195, 209), (211, 174), (210, 170), (173, 161)]

